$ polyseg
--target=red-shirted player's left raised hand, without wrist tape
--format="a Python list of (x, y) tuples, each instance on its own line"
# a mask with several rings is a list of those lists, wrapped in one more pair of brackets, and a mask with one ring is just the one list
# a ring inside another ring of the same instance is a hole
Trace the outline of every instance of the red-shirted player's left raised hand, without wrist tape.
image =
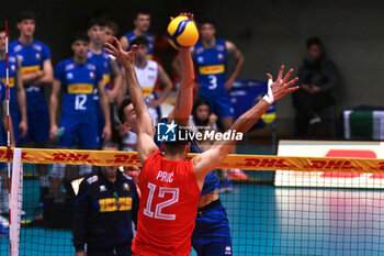
[(105, 52), (110, 53), (113, 57), (116, 58), (116, 60), (123, 65), (125, 68), (133, 67), (134, 60), (135, 60), (135, 52), (137, 49), (137, 45), (132, 45), (129, 52), (125, 52), (122, 48), (122, 45), (120, 44), (118, 40), (116, 37), (112, 38), (112, 45), (111, 43), (104, 43), (104, 49)]

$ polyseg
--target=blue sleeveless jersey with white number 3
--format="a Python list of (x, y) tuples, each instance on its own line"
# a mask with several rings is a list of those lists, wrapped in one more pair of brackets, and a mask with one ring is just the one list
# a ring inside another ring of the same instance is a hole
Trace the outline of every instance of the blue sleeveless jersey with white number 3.
[(216, 40), (213, 48), (205, 48), (202, 41), (194, 46), (193, 60), (197, 69), (197, 80), (206, 90), (225, 90), (227, 51), (224, 40)]

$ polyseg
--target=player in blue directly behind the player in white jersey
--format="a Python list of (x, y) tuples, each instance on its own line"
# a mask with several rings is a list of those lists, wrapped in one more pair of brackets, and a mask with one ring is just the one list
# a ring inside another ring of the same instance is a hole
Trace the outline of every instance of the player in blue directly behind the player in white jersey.
[(155, 36), (153, 35), (153, 33), (148, 32), (150, 26), (150, 13), (146, 11), (137, 12), (136, 18), (134, 20), (134, 25), (135, 29), (133, 31), (126, 33), (120, 38), (123, 49), (129, 49), (131, 45), (133, 45), (132, 41), (137, 36), (145, 36), (148, 41), (147, 58), (153, 59)]

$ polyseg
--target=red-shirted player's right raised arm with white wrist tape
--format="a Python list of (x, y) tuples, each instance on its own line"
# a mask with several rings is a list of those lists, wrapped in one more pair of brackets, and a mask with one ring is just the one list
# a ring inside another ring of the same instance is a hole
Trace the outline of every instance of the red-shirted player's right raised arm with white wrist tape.
[[(298, 89), (298, 87), (290, 87), (297, 81), (297, 78), (289, 81), (293, 69), (291, 69), (284, 78), (283, 73), (284, 66), (281, 67), (278, 79), (272, 85), (269, 82), (268, 93), (264, 96), (264, 98), (240, 118), (238, 118), (231, 125), (231, 131), (245, 134), (269, 109), (273, 101), (279, 100), (286, 93)], [(268, 77), (270, 80), (272, 80), (271, 75), (268, 74)], [(195, 156), (192, 159), (193, 169), (199, 185), (202, 186), (205, 176), (225, 159), (235, 143), (236, 141), (216, 141), (208, 151)]]

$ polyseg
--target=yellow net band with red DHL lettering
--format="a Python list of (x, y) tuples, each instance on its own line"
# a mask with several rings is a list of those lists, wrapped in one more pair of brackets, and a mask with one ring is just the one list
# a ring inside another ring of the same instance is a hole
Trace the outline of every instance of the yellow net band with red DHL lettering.
[[(189, 154), (189, 158), (196, 154)], [(7, 148), (0, 147), (0, 162), (8, 162)], [(11, 149), (11, 162), (13, 151)], [(72, 164), (97, 166), (140, 166), (136, 152), (102, 152), (22, 148), (22, 162), (31, 164)], [(217, 168), (298, 171), (345, 171), (384, 174), (384, 159), (342, 157), (293, 157), (228, 155)]]

